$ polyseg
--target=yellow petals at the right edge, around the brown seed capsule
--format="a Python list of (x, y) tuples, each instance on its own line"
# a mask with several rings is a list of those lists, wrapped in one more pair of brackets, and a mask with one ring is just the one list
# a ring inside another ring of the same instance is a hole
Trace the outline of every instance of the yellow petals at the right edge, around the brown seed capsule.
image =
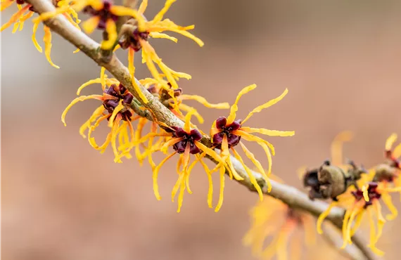
[[(331, 146), (331, 153), (333, 160), (336, 160), (336, 163), (341, 163), (343, 160), (342, 157), (342, 143), (344, 141), (350, 141), (352, 138), (352, 134), (349, 131), (340, 133)], [(390, 151), (393, 143), (395, 143), (397, 139), (396, 134), (392, 134), (386, 141), (386, 151)], [(393, 150), (392, 156), (393, 159), (399, 158), (401, 155), (401, 144), (397, 145)], [(355, 234), (359, 226), (361, 226), (362, 221), (364, 220), (364, 216), (367, 216), (369, 221), (369, 245), (374, 254), (379, 256), (383, 256), (384, 252), (376, 247), (376, 243), (378, 239), (382, 235), (383, 226), (386, 221), (391, 221), (397, 217), (398, 211), (395, 205), (392, 202), (392, 198), (390, 193), (401, 193), (401, 186), (399, 185), (399, 179), (395, 178), (392, 183), (388, 181), (380, 181), (380, 182), (372, 182), (375, 176), (375, 169), (369, 169), (369, 174), (365, 174), (362, 176), (363, 178), (357, 182), (359, 187), (362, 187), (360, 190), (363, 193), (363, 199), (356, 198), (355, 193), (357, 188), (354, 186), (350, 186), (348, 190), (345, 191), (342, 195), (337, 197), (337, 201), (331, 202), (329, 207), (319, 216), (317, 219), (317, 232), (319, 234), (323, 233), (322, 223), (324, 219), (329, 215), (331, 209), (333, 207), (342, 207), (345, 209), (345, 216), (343, 220), (343, 247), (345, 248), (347, 245), (352, 244), (352, 236)], [(380, 198), (374, 197), (369, 202), (369, 183), (376, 183), (376, 193), (380, 195)], [(393, 184), (394, 183), (394, 184)], [(381, 201), (388, 207), (390, 214), (383, 217), (382, 209), (381, 209)], [(369, 202), (369, 204), (367, 204)], [(367, 213), (367, 214), (366, 214)]]

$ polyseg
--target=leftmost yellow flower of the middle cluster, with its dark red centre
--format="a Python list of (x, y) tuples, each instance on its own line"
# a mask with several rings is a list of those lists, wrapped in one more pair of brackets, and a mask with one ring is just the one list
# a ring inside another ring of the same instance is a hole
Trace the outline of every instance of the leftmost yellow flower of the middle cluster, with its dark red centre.
[[(77, 93), (89, 84), (104, 82), (103, 95), (90, 95), (90, 96), (79, 96), (72, 100), (70, 105), (65, 108), (63, 114), (61, 115), (61, 121), (65, 124), (65, 115), (67, 115), (68, 110), (79, 101), (84, 101), (88, 99), (101, 100), (102, 104), (96, 108), (91, 117), (82, 124), (79, 129), (79, 134), (86, 138), (85, 131), (88, 130), (88, 141), (93, 148), (104, 152), (108, 145), (111, 143), (113, 148), (113, 153), (115, 155), (115, 162), (122, 162), (122, 157), (127, 157), (128, 159), (132, 157), (130, 155), (130, 150), (134, 148), (135, 145), (143, 142), (141, 140), (136, 140), (135, 131), (132, 126), (132, 121), (139, 119), (141, 117), (134, 116), (134, 111), (130, 108), (130, 104), (134, 98), (129, 91), (122, 86), (115, 79), (107, 79), (106, 77), (101, 77), (100, 79), (93, 79), (82, 86), (79, 87)], [(106, 88), (106, 85), (109, 87)], [(99, 124), (108, 120), (108, 126), (110, 127), (110, 133), (106, 137), (106, 141), (102, 145), (98, 145), (93, 137), (91, 137), (92, 132), (96, 129)], [(117, 140), (119, 141), (119, 146), (117, 147)]]

